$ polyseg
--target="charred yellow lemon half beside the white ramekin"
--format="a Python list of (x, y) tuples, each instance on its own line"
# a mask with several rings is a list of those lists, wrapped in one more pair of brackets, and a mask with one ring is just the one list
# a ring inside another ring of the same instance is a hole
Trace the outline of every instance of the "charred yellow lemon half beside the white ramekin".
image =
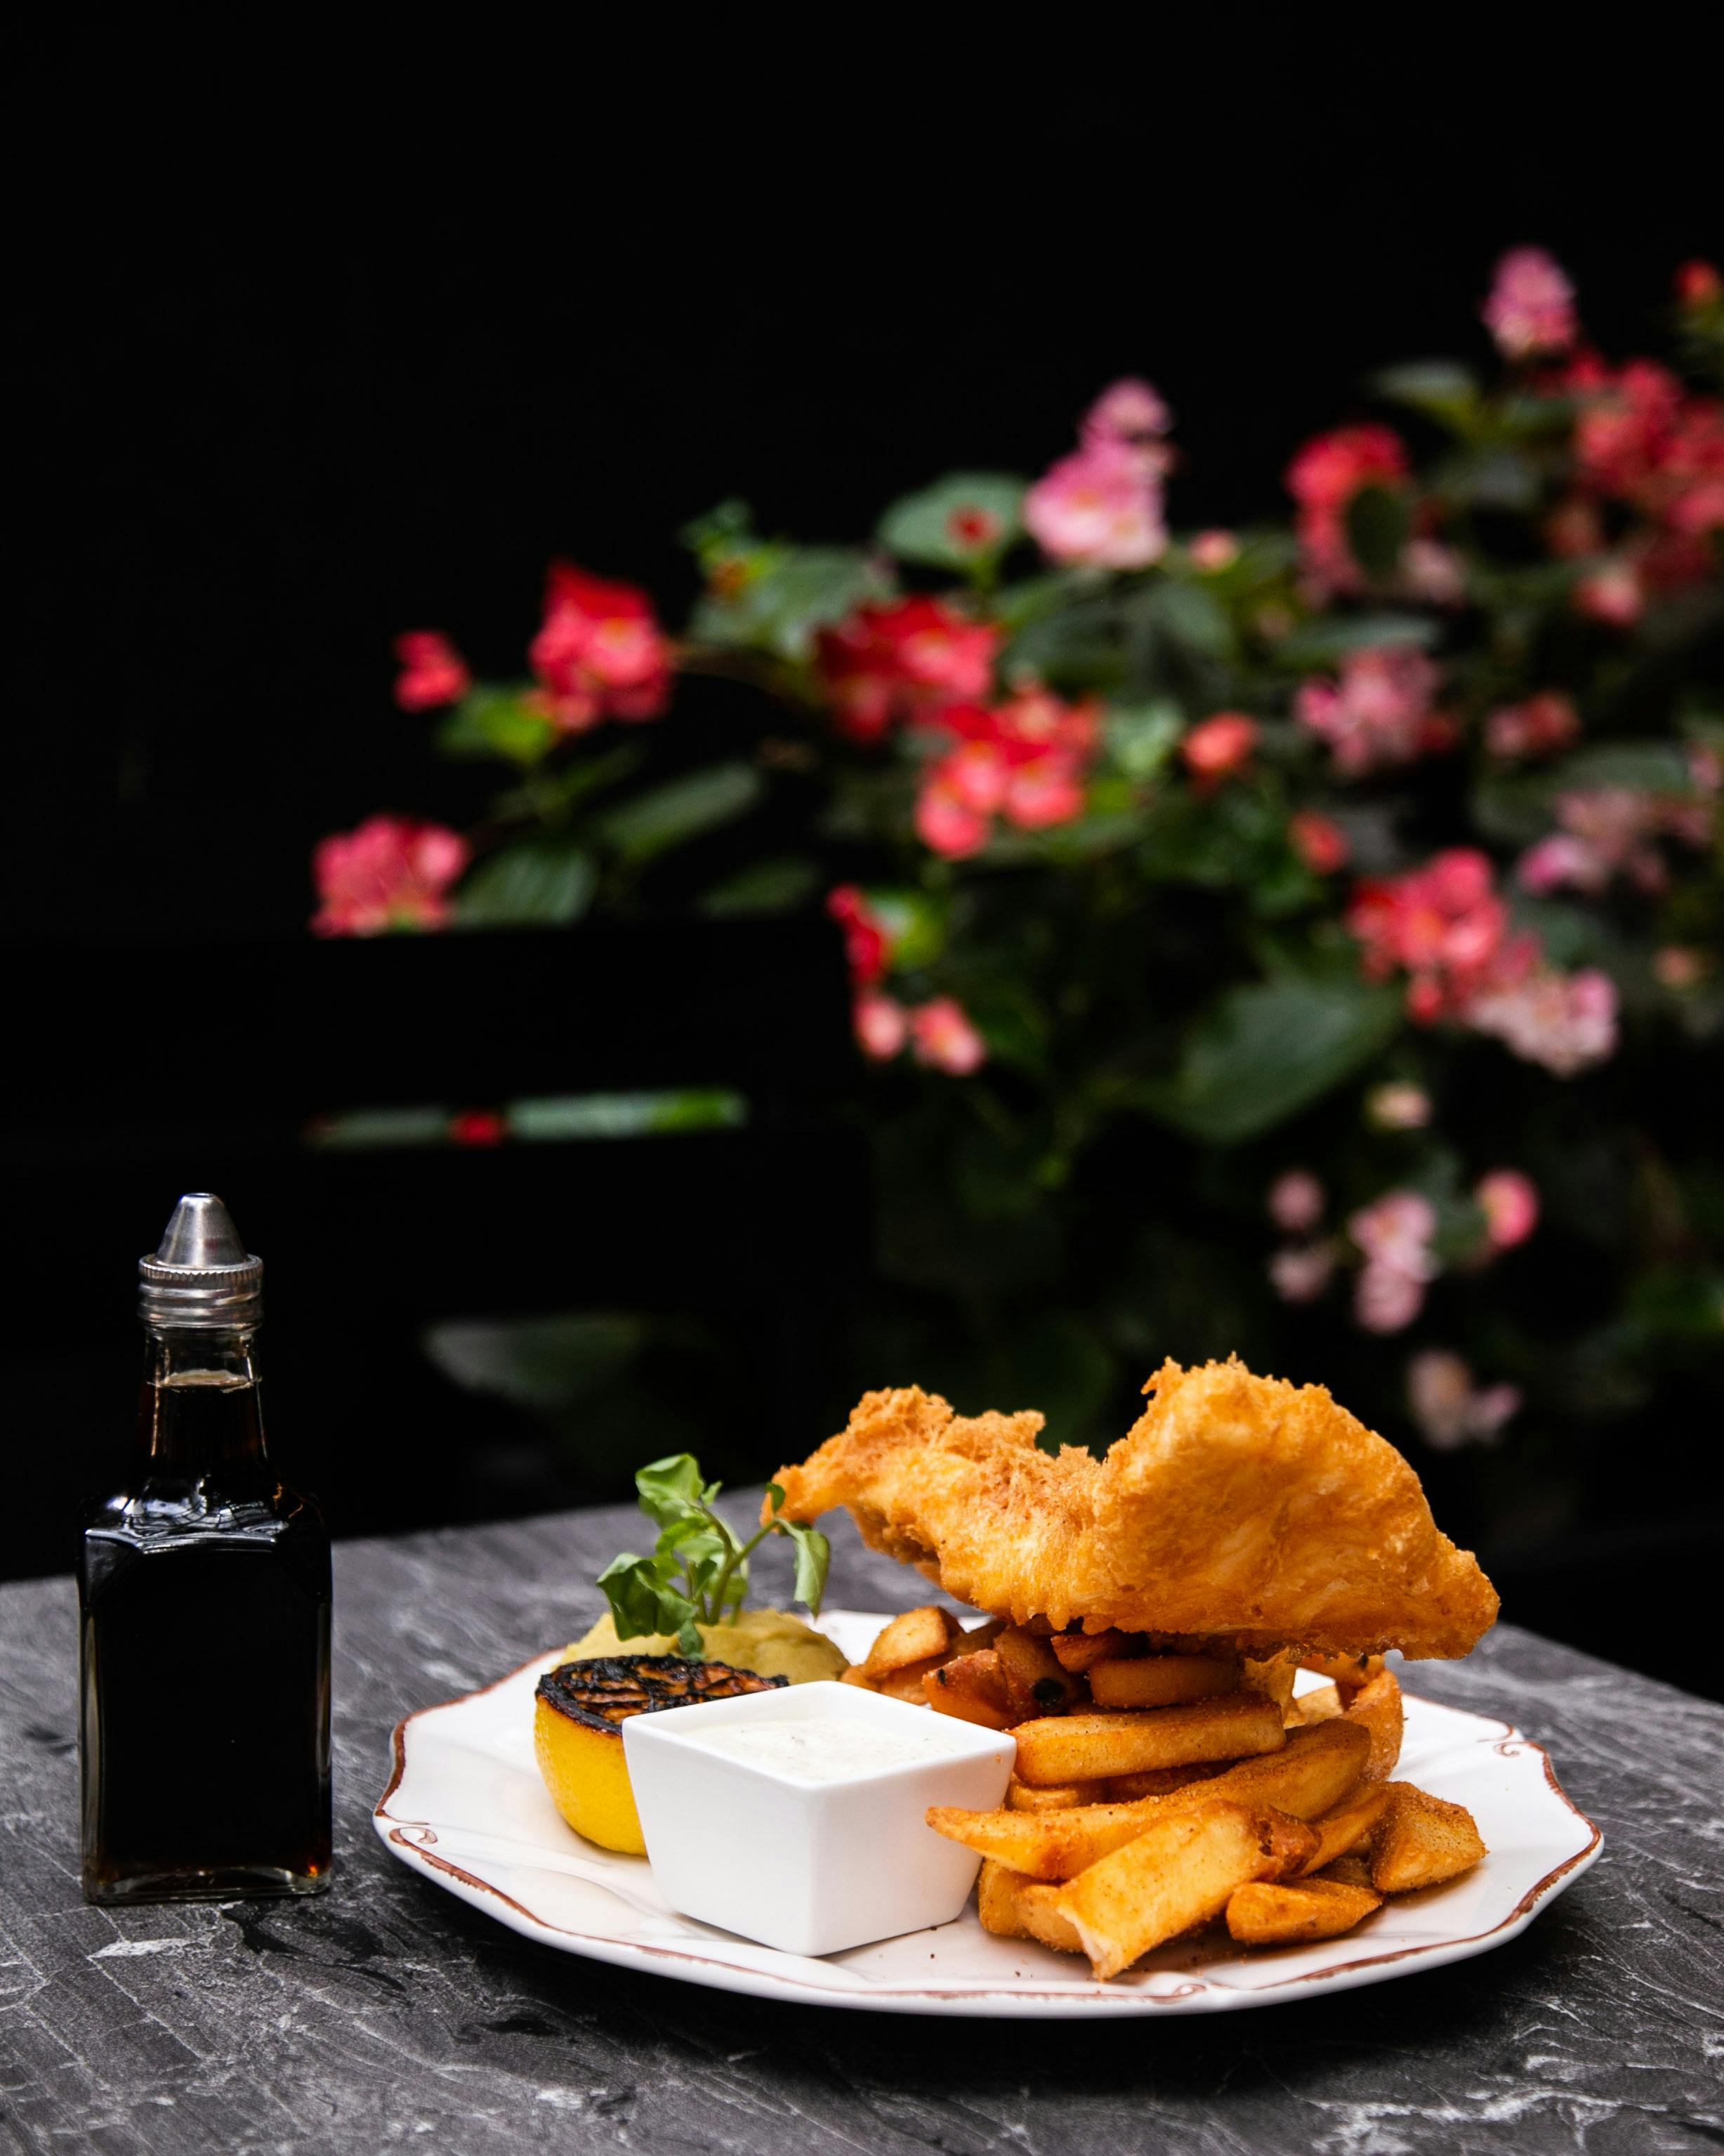
[(774, 1692), (784, 1677), (756, 1677), (728, 1662), (690, 1662), (679, 1654), (614, 1654), (560, 1662), (539, 1680), (532, 1749), (552, 1802), (578, 1835), (601, 1850), (644, 1856), (640, 1818), (623, 1759), (631, 1714), (692, 1708), (700, 1699)]

